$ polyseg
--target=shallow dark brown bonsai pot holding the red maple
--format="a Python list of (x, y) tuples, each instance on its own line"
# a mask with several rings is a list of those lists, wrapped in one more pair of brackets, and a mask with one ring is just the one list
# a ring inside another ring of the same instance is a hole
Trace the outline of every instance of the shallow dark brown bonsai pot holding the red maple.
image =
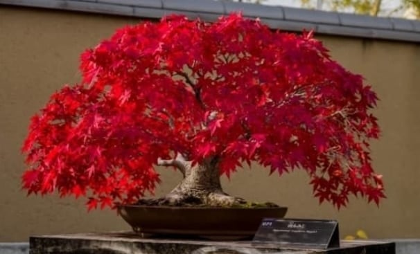
[(284, 217), (286, 207), (121, 206), (119, 212), (141, 237), (170, 235), (250, 239), (266, 217)]

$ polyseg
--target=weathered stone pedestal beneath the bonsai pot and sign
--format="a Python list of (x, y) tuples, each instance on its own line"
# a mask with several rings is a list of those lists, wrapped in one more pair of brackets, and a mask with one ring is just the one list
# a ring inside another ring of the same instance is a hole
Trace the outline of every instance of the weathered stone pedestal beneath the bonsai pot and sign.
[(85, 233), (30, 237), (30, 254), (395, 254), (390, 242), (344, 241), (326, 251), (253, 246), (252, 242), (143, 239), (134, 233)]

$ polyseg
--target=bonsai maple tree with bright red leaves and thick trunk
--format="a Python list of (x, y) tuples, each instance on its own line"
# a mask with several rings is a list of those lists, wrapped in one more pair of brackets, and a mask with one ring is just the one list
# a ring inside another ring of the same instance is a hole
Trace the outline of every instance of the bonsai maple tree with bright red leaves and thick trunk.
[(86, 196), (89, 209), (135, 203), (184, 178), (157, 203), (235, 205), (220, 186), (245, 163), (306, 170), (315, 197), (378, 203), (369, 140), (376, 94), (331, 60), (312, 33), (274, 32), (240, 14), (127, 26), (81, 55), (82, 81), (51, 96), (23, 146), (28, 193)]

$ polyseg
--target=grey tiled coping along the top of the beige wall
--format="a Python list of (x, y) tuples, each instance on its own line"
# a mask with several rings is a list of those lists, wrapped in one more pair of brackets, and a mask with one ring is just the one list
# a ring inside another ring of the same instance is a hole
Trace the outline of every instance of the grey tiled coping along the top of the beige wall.
[(0, 5), (94, 12), (128, 17), (159, 19), (171, 13), (214, 21), (220, 15), (242, 11), (245, 17), (259, 17), (270, 28), (315, 30), (324, 35), (420, 42), (420, 21), (369, 17), (319, 10), (263, 6), (212, 0), (0, 0)]

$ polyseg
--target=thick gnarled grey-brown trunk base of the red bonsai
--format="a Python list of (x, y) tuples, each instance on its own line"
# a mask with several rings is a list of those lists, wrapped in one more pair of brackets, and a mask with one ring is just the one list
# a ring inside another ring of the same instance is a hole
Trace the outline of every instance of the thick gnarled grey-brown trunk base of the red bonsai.
[(201, 164), (192, 165), (183, 156), (170, 161), (160, 160), (159, 165), (173, 165), (184, 174), (184, 179), (164, 198), (170, 205), (185, 203), (207, 206), (232, 206), (246, 203), (244, 199), (231, 197), (222, 190), (218, 158), (205, 159)]

